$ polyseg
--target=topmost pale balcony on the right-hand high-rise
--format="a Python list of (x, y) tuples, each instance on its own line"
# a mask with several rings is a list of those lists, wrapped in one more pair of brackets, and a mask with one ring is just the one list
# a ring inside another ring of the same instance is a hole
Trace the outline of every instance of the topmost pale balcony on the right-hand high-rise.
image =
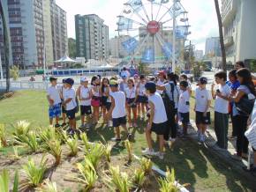
[(232, 21), (232, 18), (237, 13), (238, 2), (237, 0), (225, 0), (222, 4), (222, 23), (223, 26)]

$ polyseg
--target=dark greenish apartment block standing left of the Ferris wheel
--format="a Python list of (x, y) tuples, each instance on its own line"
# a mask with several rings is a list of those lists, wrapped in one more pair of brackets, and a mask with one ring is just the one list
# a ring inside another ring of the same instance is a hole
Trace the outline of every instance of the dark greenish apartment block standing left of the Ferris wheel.
[(76, 15), (76, 49), (79, 57), (102, 60), (109, 58), (109, 26), (97, 15)]

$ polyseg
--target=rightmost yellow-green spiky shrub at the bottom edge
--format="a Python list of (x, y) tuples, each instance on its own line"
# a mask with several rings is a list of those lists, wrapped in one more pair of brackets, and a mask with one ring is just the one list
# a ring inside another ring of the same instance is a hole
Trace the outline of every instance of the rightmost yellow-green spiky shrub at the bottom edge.
[(169, 168), (167, 168), (166, 171), (166, 177), (165, 178), (160, 178), (158, 180), (159, 183), (159, 190), (160, 192), (178, 192), (180, 191), (180, 188), (183, 186), (178, 186), (178, 182), (175, 179), (175, 172), (174, 169), (171, 169), (171, 173), (169, 172)]

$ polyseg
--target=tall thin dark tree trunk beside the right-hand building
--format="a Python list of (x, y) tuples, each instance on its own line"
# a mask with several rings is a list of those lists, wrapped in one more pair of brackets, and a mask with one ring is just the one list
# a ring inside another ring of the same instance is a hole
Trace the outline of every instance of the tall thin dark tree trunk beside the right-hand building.
[(215, 9), (216, 9), (218, 23), (219, 23), (220, 43), (221, 43), (221, 49), (222, 49), (222, 70), (227, 71), (226, 50), (224, 46), (223, 29), (222, 29), (223, 28), (222, 15), (221, 15), (218, 0), (215, 0)]

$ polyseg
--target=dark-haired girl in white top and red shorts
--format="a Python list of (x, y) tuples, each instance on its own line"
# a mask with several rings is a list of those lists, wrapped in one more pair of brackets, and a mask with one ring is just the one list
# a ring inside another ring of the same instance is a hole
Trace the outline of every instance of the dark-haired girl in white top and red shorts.
[(93, 107), (93, 117), (94, 117), (94, 124), (99, 122), (100, 118), (100, 106), (101, 106), (101, 82), (100, 78), (94, 76), (91, 80), (92, 89), (92, 107)]

